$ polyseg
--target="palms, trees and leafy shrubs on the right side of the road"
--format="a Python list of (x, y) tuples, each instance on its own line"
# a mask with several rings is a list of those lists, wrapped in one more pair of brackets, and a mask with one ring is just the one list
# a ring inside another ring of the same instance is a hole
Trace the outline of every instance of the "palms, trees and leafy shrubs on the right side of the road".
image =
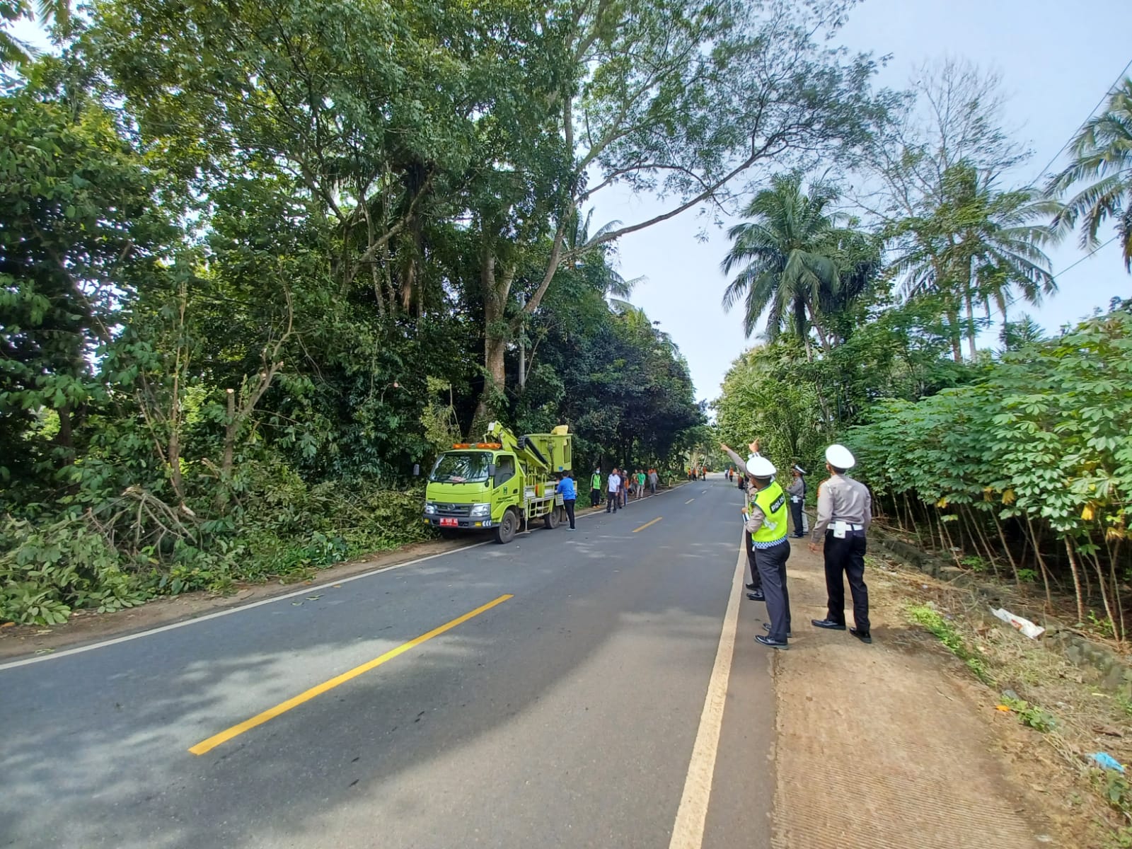
[[(1053, 609), (1120, 641), (1132, 617), (1132, 301), (1054, 338), (1007, 310), (1056, 290), (1043, 248), (1077, 221), (1084, 248), (1106, 220), (1127, 241), (1130, 85), (1045, 194), (1002, 187), (1023, 147), (998, 129), (997, 80), (955, 62), (920, 83), (931, 118), (911, 104), (875, 136), (859, 169), (873, 188), (852, 198), (860, 218), (825, 212), (839, 196), (829, 185), (775, 181), (724, 263), (749, 263), (724, 305), (747, 292), (745, 325), (765, 314), (765, 342), (715, 402), (724, 440), (758, 435), (781, 464), (822, 470), (824, 446), (844, 441), (892, 531), (959, 566), (1040, 582)], [(878, 246), (876, 259), (859, 246)], [(995, 314), (1001, 348), (979, 351)]]

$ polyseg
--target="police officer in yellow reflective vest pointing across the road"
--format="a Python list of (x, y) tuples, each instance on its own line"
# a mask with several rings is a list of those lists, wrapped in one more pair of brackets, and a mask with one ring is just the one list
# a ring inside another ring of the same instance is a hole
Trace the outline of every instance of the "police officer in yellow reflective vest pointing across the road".
[(790, 634), (790, 595), (786, 586), (786, 561), (790, 557), (790, 542), (787, 540), (787, 497), (782, 487), (774, 480), (778, 470), (766, 457), (758, 454), (758, 440), (751, 444), (753, 454), (744, 463), (738, 455), (726, 445), (731, 460), (736, 461), (751, 481), (751, 498), (744, 507), (746, 516), (745, 530), (751, 535), (751, 544), (755, 554), (755, 565), (762, 580), (763, 595), (766, 601), (769, 632), (760, 634), (755, 641), (771, 649), (787, 649)]

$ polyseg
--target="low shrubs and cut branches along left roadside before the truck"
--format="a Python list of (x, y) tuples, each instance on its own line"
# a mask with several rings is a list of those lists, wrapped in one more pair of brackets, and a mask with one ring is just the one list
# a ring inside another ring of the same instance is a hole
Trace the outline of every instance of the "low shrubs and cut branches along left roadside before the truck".
[[(0, 620), (55, 625), (74, 610), (108, 612), (155, 595), (226, 592), (240, 582), (301, 580), (351, 557), (428, 539), (422, 494), (374, 484), (299, 484), (256, 513), (178, 522), (151, 544), (122, 543), (120, 505), (50, 524), (0, 520)], [(138, 505), (143, 497), (134, 494)], [(118, 542), (115, 546), (114, 542)]]

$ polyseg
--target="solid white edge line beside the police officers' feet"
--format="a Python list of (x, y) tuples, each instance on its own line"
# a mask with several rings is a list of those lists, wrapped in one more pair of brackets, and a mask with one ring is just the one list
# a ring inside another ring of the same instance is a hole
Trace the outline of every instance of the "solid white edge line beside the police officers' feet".
[(740, 547), (731, 578), (731, 595), (727, 600), (723, 628), (719, 635), (715, 666), (707, 681), (707, 696), (700, 714), (700, 730), (692, 747), (692, 761), (684, 780), (680, 807), (672, 825), (669, 849), (700, 849), (704, 840), (707, 822), (707, 803), (711, 784), (715, 775), (715, 754), (719, 751), (719, 735), (723, 726), (723, 705), (727, 702), (727, 683), (731, 676), (731, 658), (735, 654), (735, 634), (739, 623), (739, 595), (743, 590), (744, 560), (746, 551)]

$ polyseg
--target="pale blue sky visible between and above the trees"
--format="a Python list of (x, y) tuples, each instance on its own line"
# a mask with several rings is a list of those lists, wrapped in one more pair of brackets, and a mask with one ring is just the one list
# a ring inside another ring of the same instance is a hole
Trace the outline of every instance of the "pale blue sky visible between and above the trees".
[[(865, 0), (849, 17), (840, 41), (854, 50), (891, 53), (880, 84), (906, 87), (925, 61), (964, 58), (997, 69), (1007, 95), (1005, 125), (1034, 149), (1032, 160), (1014, 175), (1027, 185), (1038, 175), (1132, 59), (1127, 38), (1132, 8), (1127, 0), (1094, 0), (1086, 7), (1052, 0)], [(1058, 158), (1056, 166), (1063, 165)], [(595, 224), (625, 223), (655, 214), (650, 197), (627, 192), (601, 198)], [(696, 241), (701, 222), (689, 212), (626, 237), (620, 246), (621, 274), (644, 275), (633, 302), (661, 321), (688, 359), (697, 395), (714, 398), (731, 361), (751, 342), (738, 312), (726, 314), (720, 298), (726, 278), (719, 271), (727, 238), (712, 230)], [(1101, 239), (1110, 233), (1104, 232)], [(1047, 251), (1055, 274), (1083, 256), (1077, 241)], [(1064, 275), (1060, 292), (1041, 307), (1024, 309), (1056, 331), (1115, 295), (1132, 297), (1115, 243)]]

